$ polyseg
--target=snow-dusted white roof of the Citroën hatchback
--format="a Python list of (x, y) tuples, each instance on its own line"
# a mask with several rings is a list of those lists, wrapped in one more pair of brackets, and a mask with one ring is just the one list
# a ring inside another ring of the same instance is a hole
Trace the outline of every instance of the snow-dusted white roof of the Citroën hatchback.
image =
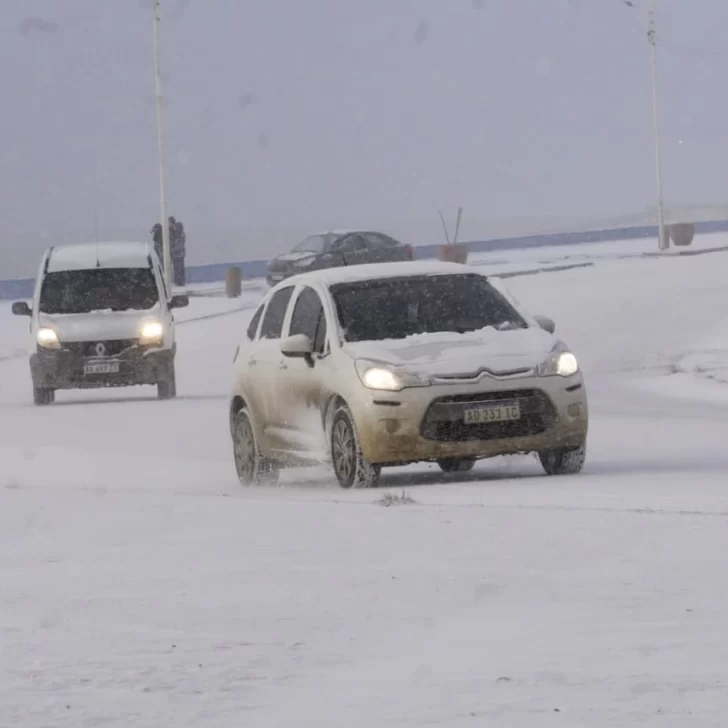
[(359, 283), (361, 281), (409, 276), (434, 275), (483, 275), (470, 266), (461, 263), (445, 263), (438, 260), (403, 261), (401, 263), (366, 263), (363, 265), (324, 268), (309, 273), (299, 273), (281, 281), (276, 288), (285, 288), (296, 283), (321, 283), (334, 286), (337, 283)]

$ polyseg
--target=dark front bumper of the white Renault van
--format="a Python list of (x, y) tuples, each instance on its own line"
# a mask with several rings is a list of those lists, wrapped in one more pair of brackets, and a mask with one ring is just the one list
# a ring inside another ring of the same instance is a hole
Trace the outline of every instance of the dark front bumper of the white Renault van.
[[(40, 349), (30, 357), (33, 384), (43, 389), (98, 389), (157, 384), (168, 376), (174, 349), (134, 346), (114, 357), (79, 356), (67, 349)], [(87, 364), (110, 364), (118, 371), (86, 373)]]

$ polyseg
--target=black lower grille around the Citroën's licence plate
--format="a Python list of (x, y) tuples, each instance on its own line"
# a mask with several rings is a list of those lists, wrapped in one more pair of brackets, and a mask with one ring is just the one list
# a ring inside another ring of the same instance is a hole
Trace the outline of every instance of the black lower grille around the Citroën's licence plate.
[[(465, 408), (485, 402), (518, 400), (521, 418), (515, 422), (466, 424)], [(529, 437), (544, 432), (558, 419), (551, 400), (538, 389), (474, 392), (439, 397), (430, 403), (420, 432), (427, 440), (469, 442)]]

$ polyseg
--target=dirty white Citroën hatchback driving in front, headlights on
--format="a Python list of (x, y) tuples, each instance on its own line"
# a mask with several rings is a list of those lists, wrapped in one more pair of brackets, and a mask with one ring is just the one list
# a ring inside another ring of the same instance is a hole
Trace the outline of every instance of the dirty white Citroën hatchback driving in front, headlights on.
[(279, 283), (238, 347), (230, 400), (241, 482), (328, 461), (343, 488), (381, 468), (538, 453), (584, 464), (576, 356), (498, 280), (456, 263), (333, 268)]

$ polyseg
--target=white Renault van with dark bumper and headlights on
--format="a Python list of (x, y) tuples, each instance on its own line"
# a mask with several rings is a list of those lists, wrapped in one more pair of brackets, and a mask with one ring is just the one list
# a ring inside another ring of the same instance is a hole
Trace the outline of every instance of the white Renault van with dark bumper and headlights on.
[(166, 290), (162, 267), (147, 243), (88, 243), (49, 248), (43, 255), (30, 316), (35, 404), (57, 389), (156, 385), (160, 399), (176, 395), (172, 309), (187, 296)]

